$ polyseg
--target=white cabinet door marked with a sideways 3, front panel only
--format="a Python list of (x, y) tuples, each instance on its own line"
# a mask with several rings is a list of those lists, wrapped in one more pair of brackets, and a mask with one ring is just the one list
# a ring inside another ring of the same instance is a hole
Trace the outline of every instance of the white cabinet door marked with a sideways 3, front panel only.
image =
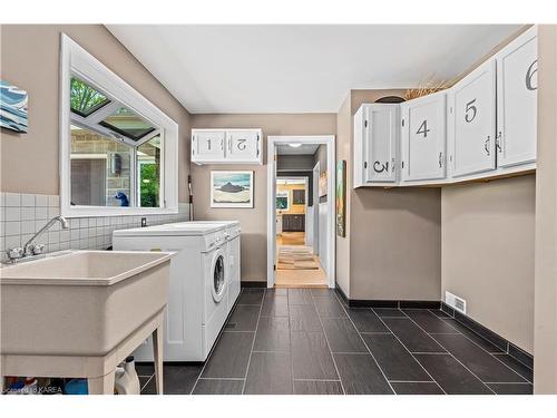
[(364, 169), (368, 183), (397, 182), (397, 123), (398, 105), (367, 107)]

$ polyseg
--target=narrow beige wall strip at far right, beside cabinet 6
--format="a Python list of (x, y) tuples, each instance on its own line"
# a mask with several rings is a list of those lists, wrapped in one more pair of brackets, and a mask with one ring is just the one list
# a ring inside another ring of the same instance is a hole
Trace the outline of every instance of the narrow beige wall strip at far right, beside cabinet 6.
[(557, 395), (557, 26), (538, 29), (534, 391)]

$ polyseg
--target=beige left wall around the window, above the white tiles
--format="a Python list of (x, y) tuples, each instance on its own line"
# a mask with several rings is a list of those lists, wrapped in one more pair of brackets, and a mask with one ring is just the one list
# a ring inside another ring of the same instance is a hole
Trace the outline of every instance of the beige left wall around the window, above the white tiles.
[(58, 194), (58, 77), (65, 32), (179, 125), (179, 201), (186, 200), (189, 115), (101, 25), (2, 25), (0, 78), (29, 94), (29, 132), (1, 133), (3, 192)]

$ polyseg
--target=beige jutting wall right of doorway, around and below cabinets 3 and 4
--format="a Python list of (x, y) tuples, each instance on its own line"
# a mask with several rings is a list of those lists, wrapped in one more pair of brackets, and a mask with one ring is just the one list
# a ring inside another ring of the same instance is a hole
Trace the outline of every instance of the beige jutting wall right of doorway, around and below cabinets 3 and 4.
[(336, 237), (336, 281), (350, 299), (439, 300), (441, 200), (434, 188), (352, 186), (353, 115), (403, 90), (352, 90), (339, 111), (338, 159), (346, 159), (346, 239)]

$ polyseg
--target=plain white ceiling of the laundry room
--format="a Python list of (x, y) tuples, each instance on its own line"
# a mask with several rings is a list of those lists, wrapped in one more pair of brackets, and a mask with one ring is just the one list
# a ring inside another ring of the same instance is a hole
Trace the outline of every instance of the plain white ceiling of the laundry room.
[(350, 89), (465, 71), (518, 25), (108, 25), (194, 114), (336, 113)]

